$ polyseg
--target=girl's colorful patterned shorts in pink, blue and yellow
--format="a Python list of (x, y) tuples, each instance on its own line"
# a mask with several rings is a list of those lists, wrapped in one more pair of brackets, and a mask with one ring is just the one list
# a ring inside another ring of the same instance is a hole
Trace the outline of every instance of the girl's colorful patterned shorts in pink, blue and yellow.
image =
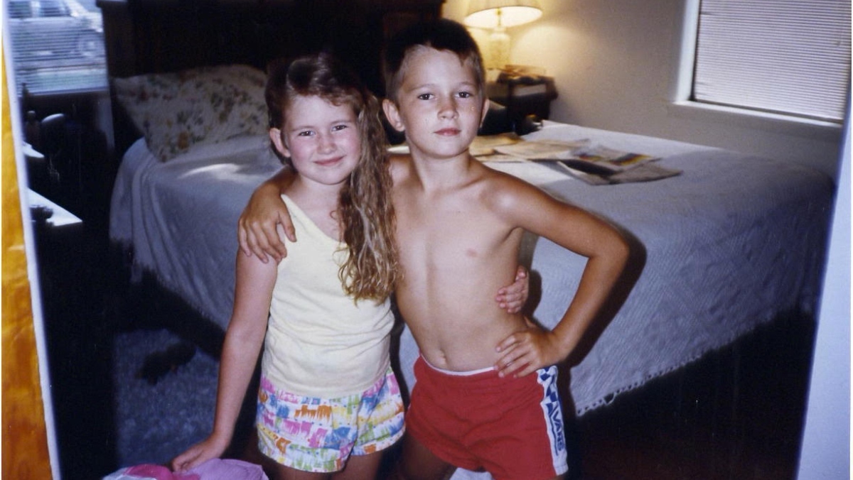
[(403, 436), (403, 397), (391, 368), (361, 395), (299, 396), (265, 377), (258, 390), (258, 447), (301, 471), (339, 471), (350, 454), (366, 455)]

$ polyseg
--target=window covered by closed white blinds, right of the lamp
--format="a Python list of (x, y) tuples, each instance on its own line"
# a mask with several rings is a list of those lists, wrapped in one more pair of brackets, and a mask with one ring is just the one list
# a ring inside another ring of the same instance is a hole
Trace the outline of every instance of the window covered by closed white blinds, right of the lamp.
[(693, 101), (840, 123), (850, 0), (701, 0)]

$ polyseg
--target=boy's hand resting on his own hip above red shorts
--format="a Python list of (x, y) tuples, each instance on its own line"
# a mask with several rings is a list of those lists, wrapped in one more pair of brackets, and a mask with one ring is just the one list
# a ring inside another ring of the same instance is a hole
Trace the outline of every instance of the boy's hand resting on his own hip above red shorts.
[(497, 345), (496, 350), (502, 356), (495, 368), (501, 377), (524, 377), (539, 368), (559, 363), (567, 355), (555, 333), (543, 330), (528, 319), (525, 321), (525, 330), (509, 335)]

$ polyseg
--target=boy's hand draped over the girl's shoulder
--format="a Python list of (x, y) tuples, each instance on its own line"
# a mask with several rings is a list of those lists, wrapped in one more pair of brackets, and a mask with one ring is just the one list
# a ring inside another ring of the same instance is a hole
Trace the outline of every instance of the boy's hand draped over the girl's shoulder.
[(264, 263), (269, 261), (267, 255), (275, 258), (276, 262), (287, 257), (287, 247), (281, 241), (279, 228), (290, 241), (296, 241), (296, 233), (287, 206), (281, 201), (281, 194), (293, 178), (293, 171), (282, 168), (252, 192), (237, 221), (237, 239), (246, 255), (253, 253)]

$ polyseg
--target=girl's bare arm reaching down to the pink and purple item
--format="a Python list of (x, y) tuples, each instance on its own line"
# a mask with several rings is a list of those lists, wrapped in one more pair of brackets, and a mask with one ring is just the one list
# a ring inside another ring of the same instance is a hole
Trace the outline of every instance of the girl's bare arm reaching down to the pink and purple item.
[(172, 470), (188, 471), (206, 460), (219, 457), (228, 448), (264, 343), (275, 282), (275, 263), (262, 263), (258, 257), (237, 255), (234, 314), (225, 333), (219, 364), (213, 431), (204, 441), (172, 460)]

